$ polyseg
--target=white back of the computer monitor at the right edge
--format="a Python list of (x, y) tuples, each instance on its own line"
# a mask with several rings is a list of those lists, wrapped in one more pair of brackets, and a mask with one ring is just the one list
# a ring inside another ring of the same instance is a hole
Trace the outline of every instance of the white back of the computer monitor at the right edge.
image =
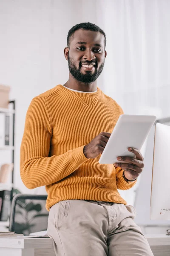
[(155, 125), (150, 219), (170, 220), (170, 126)]

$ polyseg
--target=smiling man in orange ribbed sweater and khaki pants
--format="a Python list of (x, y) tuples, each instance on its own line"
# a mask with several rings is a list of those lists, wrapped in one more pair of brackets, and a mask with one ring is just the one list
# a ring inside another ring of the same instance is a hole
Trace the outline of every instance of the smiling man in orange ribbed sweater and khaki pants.
[(144, 167), (142, 154), (129, 148), (136, 159), (122, 157), (128, 164), (99, 164), (123, 113), (96, 86), (106, 58), (105, 33), (80, 23), (68, 32), (67, 43), (68, 81), (35, 97), (27, 111), (23, 183), (29, 189), (46, 186), (48, 235), (56, 255), (153, 256), (133, 221), (136, 210), (117, 191), (135, 185)]

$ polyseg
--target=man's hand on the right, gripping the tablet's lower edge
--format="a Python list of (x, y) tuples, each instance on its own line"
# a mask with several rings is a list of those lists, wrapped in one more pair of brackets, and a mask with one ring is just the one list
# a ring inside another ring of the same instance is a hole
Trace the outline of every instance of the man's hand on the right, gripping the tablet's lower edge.
[(136, 158), (132, 157), (117, 157), (117, 160), (125, 161), (127, 163), (114, 163), (115, 167), (121, 167), (123, 170), (125, 170), (125, 177), (127, 180), (134, 180), (136, 177), (138, 177), (143, 168), (144, 158), (142, 157), (142, 154), (139, 150), (135, 148), (128, 148), (128, 150), (136, 155)]

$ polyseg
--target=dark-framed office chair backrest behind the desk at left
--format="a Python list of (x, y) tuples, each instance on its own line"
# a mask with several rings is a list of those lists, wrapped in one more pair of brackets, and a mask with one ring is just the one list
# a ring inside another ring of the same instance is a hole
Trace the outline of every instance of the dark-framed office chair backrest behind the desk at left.
[(9, 231), (29, 235), (47, 230), (46, 195), (14, 195), (11, 204)]

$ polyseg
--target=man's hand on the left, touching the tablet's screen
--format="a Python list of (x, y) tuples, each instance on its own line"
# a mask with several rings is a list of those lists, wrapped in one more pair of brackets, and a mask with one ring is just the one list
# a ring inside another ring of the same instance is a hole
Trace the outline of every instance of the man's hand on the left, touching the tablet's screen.
[(84, 147), (83, 152), (85, 157), (95, 158), (99, 154), (102, 154), (110, 136), (110, 133), (103, 131), (97, 135), (88, 145)]

